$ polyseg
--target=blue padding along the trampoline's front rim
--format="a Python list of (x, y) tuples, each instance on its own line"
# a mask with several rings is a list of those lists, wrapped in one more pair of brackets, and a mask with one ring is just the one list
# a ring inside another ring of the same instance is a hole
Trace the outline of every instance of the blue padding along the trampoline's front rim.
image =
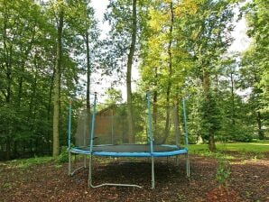
[[(90, 154), (88, 149), (71, 148), (70, 152), (79, 154)], [(107, 157), (167, 157), (188, 153), (187, 148), (181, 148), (169, 152), (92, 152), (92, 155)]]

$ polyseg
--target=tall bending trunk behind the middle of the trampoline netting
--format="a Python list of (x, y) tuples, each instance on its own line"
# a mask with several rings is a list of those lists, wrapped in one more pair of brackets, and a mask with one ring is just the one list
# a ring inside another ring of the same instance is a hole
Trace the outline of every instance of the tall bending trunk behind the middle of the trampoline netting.
[(134, 120), (133, 120), (133, 106), (132, 106), (132, 66), (135, 54), (135, 41), (137, 32), (137, 19), (136, 19), (136, 0), (133, 0), (132, 10), (132, 41), (127, 60), (127, 73), (126, 73), (126, 90), (127, 90), (127, 116), (129, 126), (128, 142), (135, 142), (134, 133)]

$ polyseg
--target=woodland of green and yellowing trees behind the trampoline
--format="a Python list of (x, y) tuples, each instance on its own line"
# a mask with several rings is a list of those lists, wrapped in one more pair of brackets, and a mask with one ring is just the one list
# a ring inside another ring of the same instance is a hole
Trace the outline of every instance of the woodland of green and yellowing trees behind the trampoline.
[[(146, 87), (160, 105), (188, 96), (190, 142), (201, 137), (211, 151), (217, 141), (268, 138), (268, 0), (110, 0), (103, 40), (89, 3), (0, 0), (0, 160), (58, 155), (70, 99), (74, 112), (90, 110), (90, 86), (103, 75), (124, 80), (127, 103)], [(242, 17), (252, 44), (229, 52)], [(112, 86), (107, 102), (121, 95)]]

